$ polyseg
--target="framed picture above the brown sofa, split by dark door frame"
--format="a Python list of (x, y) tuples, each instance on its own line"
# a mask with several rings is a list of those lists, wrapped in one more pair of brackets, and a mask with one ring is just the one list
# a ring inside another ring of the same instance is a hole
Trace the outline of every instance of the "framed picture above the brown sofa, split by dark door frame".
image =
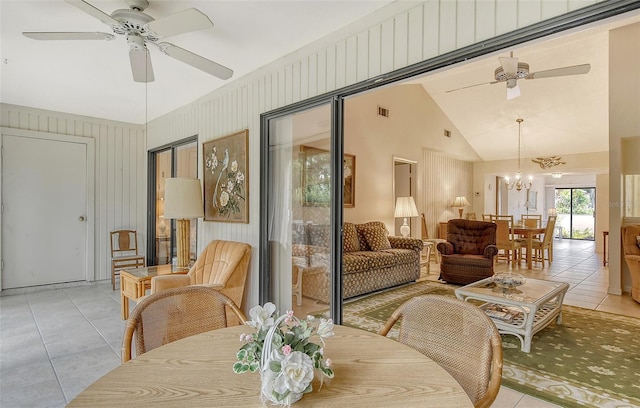
[[(330, 204), (330, 160), (328, 150), (300, 146), (302, 160), (302, 205), (328, 207)], [(355, 207), (356, 156), (345, 154), (343, 160), (343, 205)]]

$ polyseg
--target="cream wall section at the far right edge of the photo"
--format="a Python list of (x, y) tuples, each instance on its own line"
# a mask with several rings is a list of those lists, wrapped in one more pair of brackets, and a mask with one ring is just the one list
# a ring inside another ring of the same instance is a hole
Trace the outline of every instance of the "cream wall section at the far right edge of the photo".
[[(612, 30), (609, 34), (609, 293), (619, 294), (631, 290), (631, 276), (624, 263), (620, 245), (620, 227), (623, 223), (640, 222), (624, 220), (622, 212), (622, 163), (629, 156), (622, 141), (640, 136), (640, 23)], [(637, 161), (640, 153), (629, 158)]]

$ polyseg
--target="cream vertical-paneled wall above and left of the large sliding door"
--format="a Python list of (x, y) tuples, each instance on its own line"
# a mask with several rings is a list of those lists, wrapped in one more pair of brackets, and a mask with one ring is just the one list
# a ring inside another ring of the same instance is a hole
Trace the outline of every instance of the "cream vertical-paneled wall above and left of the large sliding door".
[[(392, 3), (385, 12), (230, 82), (152, 121), (149, 147), (198, 134), (199, 143), (249, 129), (250, 223), (202, 222), (200, 248), (214, 238), (258, 244), (259, 115), (595, 3), (595, 0), (430, 0)], [(406, 7), (400, 11), (399, 8)], [(373, 22), (372, 22), (373, 21)], [(191, 122), (190, 122), (191, 121)], [(200, 159), (199, 174), (202, 175)], [(420, 190), (420, 186), (418, 189)], [(466, 194), (471, 194), (468, 187)], [(436, 214), (433, 214), (435, 216)], [(435, 218), (440, 218), (440, 214)], [(432, 233), (430, 231), (430, 233)], [(257, 253), (255, 254), (257, 255)], [(257, 300), (257, 259), (249, 304)]]

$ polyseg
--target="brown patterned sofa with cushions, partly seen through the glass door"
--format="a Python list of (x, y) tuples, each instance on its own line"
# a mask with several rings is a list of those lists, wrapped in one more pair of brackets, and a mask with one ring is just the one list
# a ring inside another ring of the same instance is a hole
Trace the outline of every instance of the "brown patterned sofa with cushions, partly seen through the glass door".
[[(294, 265), (302, 268), (302, 296), (329, 302), (328, 225), (304, 225), (294, 237)], [(389, 236), (384, 223), (343, 226), (343, 298), (390, 288), (420, 277), (421, 239)], [(300, 240), (306, 239), (306, 244)]]

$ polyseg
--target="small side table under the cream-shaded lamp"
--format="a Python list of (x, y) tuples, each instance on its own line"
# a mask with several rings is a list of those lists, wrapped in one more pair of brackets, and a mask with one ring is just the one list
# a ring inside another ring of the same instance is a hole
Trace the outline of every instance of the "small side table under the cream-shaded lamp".
[(151, 278), (157, 275), (172, 273), (185, 274), (189, 268), (178, 268), (172, 265), (156, 265), (146, 268), (125, 269), (120, 271), (120, 302), (122, 320), (129, 318), (129, 299), (137, 301), (144, 296), (145, 290), (151, 284)]

